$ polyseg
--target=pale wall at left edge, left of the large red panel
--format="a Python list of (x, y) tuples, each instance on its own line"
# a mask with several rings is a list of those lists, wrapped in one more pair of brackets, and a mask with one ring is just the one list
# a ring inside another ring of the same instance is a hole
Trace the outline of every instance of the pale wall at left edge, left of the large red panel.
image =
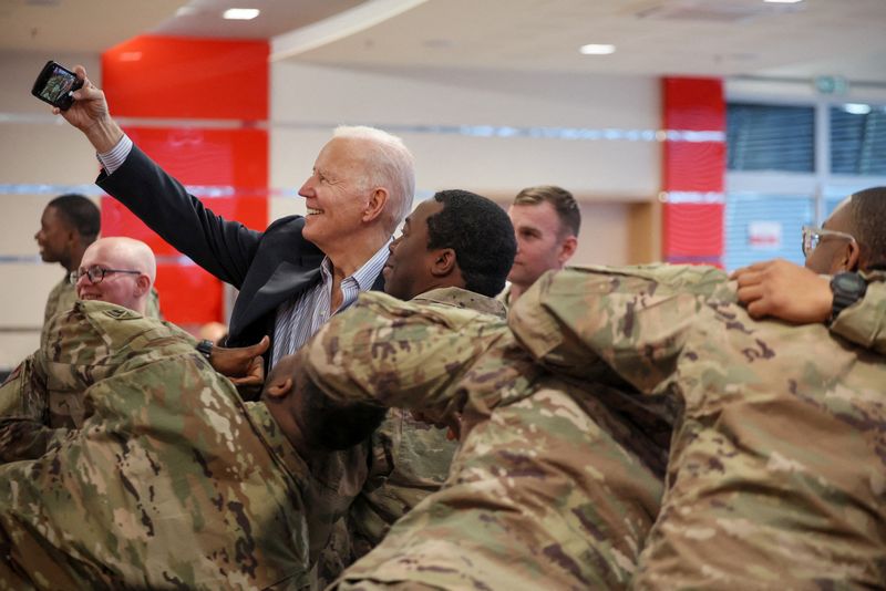
[[(91, 79), (101, 80), (99, 55), (51, 58), (68, 66), (83, 64)], [(90, 185), (99, 170), (82, 134), (68, 124), (53, 124), (51, 107), (31, 96), (47, 60), (42, 54), (0, 52), (0, 185)], [(64, 274), (59, 265), (39, 261), (33, 239), (52, 197), (0, 195), (0, 256), (37, 258), (0, 262), (4, 288), (0, 290), (0, 369), (14, 366), (37, 349), (47, 296)]]

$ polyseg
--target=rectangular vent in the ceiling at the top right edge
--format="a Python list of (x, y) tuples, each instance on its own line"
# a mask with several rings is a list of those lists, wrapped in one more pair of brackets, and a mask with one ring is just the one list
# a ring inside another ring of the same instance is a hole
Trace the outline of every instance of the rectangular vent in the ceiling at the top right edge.
[(733, 23), (801, 9), (802, 4), (772, 4), (760, 0), (672, 0), (656, 2), (635, 15), (653, 21)]

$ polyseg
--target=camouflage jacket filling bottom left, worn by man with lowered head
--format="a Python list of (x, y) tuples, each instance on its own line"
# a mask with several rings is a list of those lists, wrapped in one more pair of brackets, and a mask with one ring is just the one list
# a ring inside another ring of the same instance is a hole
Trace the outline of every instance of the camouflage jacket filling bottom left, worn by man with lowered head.
[(0, 588), (307, 585), (308, 469), (262, 403), (182, 331), (104, 302), (55, 317), (47, 343), (35, 363), (90, 413), (0, 467)]

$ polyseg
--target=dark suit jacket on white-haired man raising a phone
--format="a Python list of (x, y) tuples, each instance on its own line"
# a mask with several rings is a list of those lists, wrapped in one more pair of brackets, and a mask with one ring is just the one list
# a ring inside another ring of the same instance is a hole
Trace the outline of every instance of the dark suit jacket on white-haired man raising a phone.
[[(272, 340), (277, 307), (320, 279), (324, 255), (301, 236), (301, 216), (280, 218), (264, 232), (228, 221), (137, 146), (113, 175), (102, 172), (97, 184), (182, 253), (240, 290), (230, 315), (230, 346), (253, 344), (265, 334)], [(379, 274), (372, 289), (383, 287)]]

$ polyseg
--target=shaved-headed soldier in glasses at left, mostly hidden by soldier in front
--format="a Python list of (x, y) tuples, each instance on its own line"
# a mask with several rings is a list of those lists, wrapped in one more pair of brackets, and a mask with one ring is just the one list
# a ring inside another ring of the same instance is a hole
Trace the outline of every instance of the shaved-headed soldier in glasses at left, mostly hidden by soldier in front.
[[(154, 253), (147, 245), (132, 238), (102, 238), (85, 249), (81, 262), (72, 274), (82, 299), (146, 313), (156, 274)], [(44, 331), (43, 348), (49, 345), (47, 339)], [(35, 375), (32, 370), (32, 360), (25, 360), (13, 380), (0, 388), (0, 437), (11, 422), (16, 423), (16, 445), (0, 452), (0, 462), (39, 457), (50, 440), (63, 435), (56, 429), (79, 428), (85, 418), (81, 383), (68, 383), (52, 367), (47, 375)]]

